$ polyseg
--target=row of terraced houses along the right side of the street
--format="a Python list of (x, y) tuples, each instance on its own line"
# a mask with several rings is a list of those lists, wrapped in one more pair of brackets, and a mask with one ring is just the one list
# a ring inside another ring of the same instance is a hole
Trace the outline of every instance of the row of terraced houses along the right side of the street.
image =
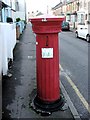
[(54, 15), (64, 15), (72, 28), (78, 23), (85, 23), (90, 19), (90, 0), (64, 0), (52, 8)]

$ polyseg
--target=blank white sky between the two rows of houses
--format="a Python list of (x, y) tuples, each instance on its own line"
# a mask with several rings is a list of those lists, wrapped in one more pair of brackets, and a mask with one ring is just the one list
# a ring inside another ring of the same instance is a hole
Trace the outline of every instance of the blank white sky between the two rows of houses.
[(48, 8), (52, 8), (57, 5), (60, 0), (26, 0), (27, 11), (28, 12), (36, 12), (37, 10), (42, 13), (47, 12)]

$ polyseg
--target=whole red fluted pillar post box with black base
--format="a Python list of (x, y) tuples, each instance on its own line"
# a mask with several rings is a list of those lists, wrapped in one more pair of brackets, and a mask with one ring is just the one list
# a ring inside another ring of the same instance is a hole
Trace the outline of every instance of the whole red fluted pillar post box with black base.
[(56, 111), (63, 104), (59, 85), (58, 44), (63, 18), (41, 17), (30, 21), (36, 33), (37, 96), (34, 104), (44, 111)]

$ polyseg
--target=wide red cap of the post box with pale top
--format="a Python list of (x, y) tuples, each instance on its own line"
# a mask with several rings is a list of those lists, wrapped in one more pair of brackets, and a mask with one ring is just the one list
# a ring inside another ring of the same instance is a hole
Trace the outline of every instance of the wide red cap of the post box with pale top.
[(58, 33), (61, 31), (61, 24), (64, 17), (53, 15), (41, 15), (29, 19), (35, 33)]

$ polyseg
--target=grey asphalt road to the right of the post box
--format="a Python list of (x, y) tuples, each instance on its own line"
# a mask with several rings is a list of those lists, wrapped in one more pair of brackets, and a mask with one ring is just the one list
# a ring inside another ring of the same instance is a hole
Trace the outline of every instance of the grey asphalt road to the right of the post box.
[(60, 65), (63, 69), (61, 72), (64, 72), (67, 78), (61, 82), (81, 118), (87, 118), (90, 112), (87, 110), (90, 94), (88, 84), (89, 44), (85, 40), (75, 38), (74, 32), (61, 32), (59, 34)]

